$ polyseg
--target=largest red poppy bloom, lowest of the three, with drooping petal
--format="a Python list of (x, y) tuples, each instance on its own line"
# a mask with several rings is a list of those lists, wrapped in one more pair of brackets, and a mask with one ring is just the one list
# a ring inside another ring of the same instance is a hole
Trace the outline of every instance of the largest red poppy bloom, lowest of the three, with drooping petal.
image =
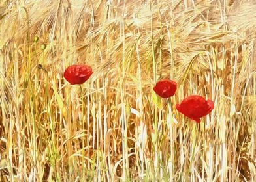
[(214, 109), (214, 102), (206, 101), (202, 96), (188, 96), (182, 103), (176, 105), (176, 109), (185, 116), (200, 123), (200, 118), (209, 114)]

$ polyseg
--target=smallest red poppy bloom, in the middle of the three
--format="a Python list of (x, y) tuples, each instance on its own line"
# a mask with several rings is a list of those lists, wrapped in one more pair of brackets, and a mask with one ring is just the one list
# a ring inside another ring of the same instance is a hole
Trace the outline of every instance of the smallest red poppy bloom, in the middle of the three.
[(161, 98), (170, 98), (170, 96), (173, 96), (177, 90), (177, 83), (170, 79), (163, 79), (157, 82), (153, 90)]

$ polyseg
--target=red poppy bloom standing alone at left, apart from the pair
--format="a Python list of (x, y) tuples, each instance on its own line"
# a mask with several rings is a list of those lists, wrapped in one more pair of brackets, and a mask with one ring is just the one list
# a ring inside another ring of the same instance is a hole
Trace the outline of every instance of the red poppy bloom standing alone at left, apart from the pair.
[(91, 69), (91, 66), (74, 64), (66, 68), (64, 77), (69, 83), (71, 83), (71, 85), (82, 84), (89, 79), (92, 73), (93, 70)]

